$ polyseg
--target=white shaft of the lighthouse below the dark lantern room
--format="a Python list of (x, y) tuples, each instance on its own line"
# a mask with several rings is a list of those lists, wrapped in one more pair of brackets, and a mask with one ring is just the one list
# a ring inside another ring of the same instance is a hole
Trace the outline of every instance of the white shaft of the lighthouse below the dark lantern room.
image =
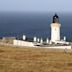
[(52, 23), (51, 24), (51, 41), (60, 41), (60, 26), (59, 23)]

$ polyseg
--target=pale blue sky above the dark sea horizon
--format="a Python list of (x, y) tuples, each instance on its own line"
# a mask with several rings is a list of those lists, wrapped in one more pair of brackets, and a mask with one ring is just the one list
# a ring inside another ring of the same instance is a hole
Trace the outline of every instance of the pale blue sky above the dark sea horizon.
[(72, 12), (72, 0), (0, 0), (0, 11)]

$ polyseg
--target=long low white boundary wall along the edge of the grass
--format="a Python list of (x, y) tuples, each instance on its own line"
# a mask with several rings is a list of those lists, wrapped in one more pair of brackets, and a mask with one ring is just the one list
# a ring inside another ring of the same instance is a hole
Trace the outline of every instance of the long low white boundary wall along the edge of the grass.
[(27, 42), (22, 40), (13, 40), (13, 45), (15, 46), (26, 46), (26, 47), (34, 47), (34, 48), (52, 48), (52, 49), (71, 49), (72, 46), (48, 46), (48, 47), (40, 47), (34, 46), (33, 42)]

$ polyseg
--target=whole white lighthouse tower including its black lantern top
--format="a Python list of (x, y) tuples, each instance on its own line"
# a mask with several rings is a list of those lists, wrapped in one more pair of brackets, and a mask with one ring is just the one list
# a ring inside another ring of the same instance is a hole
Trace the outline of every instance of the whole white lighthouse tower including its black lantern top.
[(61, 24), (59, 23), (59, 17), (55, 14), (51, 24), (51, 42), (60, 41), (60, 27)]

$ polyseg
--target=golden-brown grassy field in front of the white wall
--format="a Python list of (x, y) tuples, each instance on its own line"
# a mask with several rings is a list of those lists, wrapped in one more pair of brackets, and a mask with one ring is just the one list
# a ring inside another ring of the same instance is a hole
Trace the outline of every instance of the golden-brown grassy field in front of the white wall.
[(0, 72), (72, 72), (72, 53), (0, 46)]

